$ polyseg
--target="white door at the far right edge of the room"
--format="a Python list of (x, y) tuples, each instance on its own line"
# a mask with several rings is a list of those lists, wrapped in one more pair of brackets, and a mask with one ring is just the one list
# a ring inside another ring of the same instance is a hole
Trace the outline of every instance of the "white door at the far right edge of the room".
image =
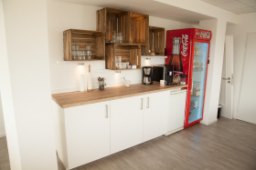
[(256, 124), (256, 33), (248, 34), (246, 46), (238, 119)]

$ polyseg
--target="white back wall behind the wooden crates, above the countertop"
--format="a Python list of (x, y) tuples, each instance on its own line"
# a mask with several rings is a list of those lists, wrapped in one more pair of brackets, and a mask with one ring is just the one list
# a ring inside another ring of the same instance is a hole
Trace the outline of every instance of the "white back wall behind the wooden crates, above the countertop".
[[(52, 93), (61, 93), (78, 90), (77, 76), (84, 68), (78, 65), (57, 65), (57, 61), (63, 61), (63, 31), (74, 28), (84, 30), (96, 30), (96, 11), (101, 7), (75, 5), (57, 1), (48, 1), (48, 48), (50, 57), (50, 78)], [(165, 27), (166, 30), (193, 27), (176, 21), (149, 17), (149, 25)], [(95, 69), (103, 69), (104, 62), (87, 62), (91, 64), (92, 84), (97, 88), (97, 76), (106, 77), (107, 86), (123, 85), (123, 76), (131, 80), (131, 84), (141, 83), (141, 70), (122, 71), (117, 74), (114, 71), (108, 73), (95, 73)], [(165, 64), (165, 59), (152, 59), (142, 65)], [(86, 70), (88, 66), (85, 66)]]

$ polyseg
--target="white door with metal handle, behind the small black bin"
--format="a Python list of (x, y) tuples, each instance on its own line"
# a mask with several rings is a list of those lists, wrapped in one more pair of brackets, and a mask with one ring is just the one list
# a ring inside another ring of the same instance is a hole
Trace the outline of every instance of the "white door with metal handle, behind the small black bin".
[(219, 94), (221, 116), (233, 118), (233, 35), (226, 35)]

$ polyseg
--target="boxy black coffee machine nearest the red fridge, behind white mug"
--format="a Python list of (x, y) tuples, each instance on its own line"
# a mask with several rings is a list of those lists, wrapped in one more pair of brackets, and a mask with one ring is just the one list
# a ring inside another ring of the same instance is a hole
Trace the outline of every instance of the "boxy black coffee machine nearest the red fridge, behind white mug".
[(160, 80), (165, 80), (166, 85), (175, 85), (173, 84), (173, 74), (174, 66), (173, 65), (152, 65), (153, 66), (153, 81), (160, 82)]

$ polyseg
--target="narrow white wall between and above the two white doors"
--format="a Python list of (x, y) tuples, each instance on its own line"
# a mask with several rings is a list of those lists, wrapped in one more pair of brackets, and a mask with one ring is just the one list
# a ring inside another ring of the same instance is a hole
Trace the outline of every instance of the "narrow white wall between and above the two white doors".
[(236, 118), (238, 114), (240, 83), (242, 80), (242, 68), (244, 64), (246, 37), (247, 34), (251, 32), (256, 32), (256, 13), (239, 15), (238, 25), (227, 26), (227, 35), (234, 36), (234, 118)]

